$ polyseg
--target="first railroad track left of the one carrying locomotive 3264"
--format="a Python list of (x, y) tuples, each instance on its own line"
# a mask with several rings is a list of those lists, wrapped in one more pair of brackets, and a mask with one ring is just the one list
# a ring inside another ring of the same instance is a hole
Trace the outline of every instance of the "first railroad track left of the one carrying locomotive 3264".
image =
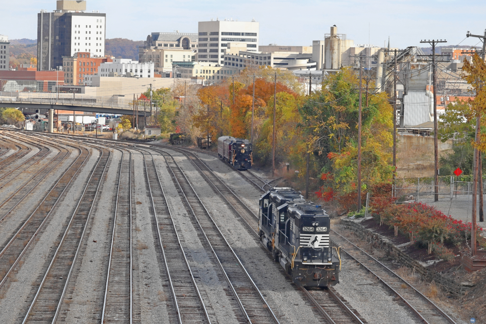
[(210, 216), (172, 154), (164, 151), (162, 154), (165, 156), (167, 167), (178, 188), (179, 195), (182, 196), (185, 208), (192, 215), (191, 221), (198, 236), (201, 241), (208, 243), (248, 323), (279, 323), (270, 305)]

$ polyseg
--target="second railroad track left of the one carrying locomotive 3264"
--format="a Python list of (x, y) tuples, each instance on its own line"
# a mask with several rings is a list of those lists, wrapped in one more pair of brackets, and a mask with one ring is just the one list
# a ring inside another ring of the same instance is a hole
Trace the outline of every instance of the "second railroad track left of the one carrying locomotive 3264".
[[(165, 265), (165, 268), (159, 267), (160, 274), (161, 278), (168, 281), (168, 288), (172, 297), (172, 303), (168, 302), (166, 305), (169, 313), (176, 316), (175, 321), (172, 319), (171, 322), (210, 324), (208, 311), (197, 288), (180, 237), (177, 234), (153, 157), (150, 153), (141, 152), (154, 213), (153, 222), (155, 226), (152, 227), (156, 229), (156, 238), (161, 251), (160, 256)], [(147, 159), (149, 159), (148, 163)], [(163, 236), (160, 234), (162, 228), (164, 229)]]

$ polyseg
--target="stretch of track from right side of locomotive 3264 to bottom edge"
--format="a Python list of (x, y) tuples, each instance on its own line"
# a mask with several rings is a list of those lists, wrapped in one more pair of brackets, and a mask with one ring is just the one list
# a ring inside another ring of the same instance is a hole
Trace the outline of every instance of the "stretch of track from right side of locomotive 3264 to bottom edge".
[(335, 230), (331, 231), (335, 234), (332, 239), (341, 244), (341, 251), (360, 263), (368, 272), (374, 274), (385, 287), (391, 290), (410, 308), (420, 322), (429, 324), (455, 324), (448, 314), (409, 282)]

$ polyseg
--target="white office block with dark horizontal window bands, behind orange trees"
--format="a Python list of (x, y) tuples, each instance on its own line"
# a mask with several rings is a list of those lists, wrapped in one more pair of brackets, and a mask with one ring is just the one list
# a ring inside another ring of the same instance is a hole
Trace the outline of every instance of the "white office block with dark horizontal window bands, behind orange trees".
[(258, 51), (260, 23), (252, 21), (215, 20), (198, 24), (197, 61), (224, 64), (228, 49)]

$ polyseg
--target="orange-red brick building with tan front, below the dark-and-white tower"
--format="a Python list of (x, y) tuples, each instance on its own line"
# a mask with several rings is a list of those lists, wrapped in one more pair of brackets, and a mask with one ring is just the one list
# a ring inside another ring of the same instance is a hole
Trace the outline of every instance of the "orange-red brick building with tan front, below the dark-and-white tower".
[(95, 57), (89, 52), (77, 52), (74, 56), (63, 56), (64, 83), (84, 85), (85, 76), (98, 75), (100, 64), (113, 62), (113, 57)]

